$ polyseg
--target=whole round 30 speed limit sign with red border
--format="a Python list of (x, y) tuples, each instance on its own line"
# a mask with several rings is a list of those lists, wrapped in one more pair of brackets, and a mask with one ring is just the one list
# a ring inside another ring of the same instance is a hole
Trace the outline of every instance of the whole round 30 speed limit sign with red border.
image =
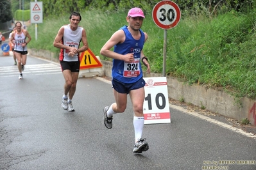
[(152, 17), (158, 27), (171, 29), (180, 22), (180, 8), (173, 1), (160, 1), (153, 8)]

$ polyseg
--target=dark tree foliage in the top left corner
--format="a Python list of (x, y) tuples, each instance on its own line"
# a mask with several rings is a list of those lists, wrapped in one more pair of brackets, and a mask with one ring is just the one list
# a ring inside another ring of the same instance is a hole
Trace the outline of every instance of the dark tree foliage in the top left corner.
[(0, 23), (12, 20), (11, 1), (0, 1)]

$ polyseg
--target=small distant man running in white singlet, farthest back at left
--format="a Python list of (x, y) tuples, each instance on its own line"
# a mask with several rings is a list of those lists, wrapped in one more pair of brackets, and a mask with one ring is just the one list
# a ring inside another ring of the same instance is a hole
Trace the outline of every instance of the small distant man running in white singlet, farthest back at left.
[[(16, 31), (12, 33), (10, 43), (14, 46), (15, 56), (18, 61), (19, 79), (23, 79), (22, 71), (27, 61), (27, 44), (31, 41), (31, 36), (26, 29), (22, 29), (21, 22), (15, 23)], [(27, 39), (28, 38), (28, 39)]]

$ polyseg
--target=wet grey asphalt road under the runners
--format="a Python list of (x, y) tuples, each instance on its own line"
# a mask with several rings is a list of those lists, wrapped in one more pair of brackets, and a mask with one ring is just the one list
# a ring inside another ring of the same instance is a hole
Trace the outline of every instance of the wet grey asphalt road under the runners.
[(171, 123), (144, 125), (149, 150), (132, 152), (132, 105), (103, 125), (111, 84), (78, 79), (75, 112), (61, 107), (58, 63), (28, 56), (19, 80), (12, 56), (0, 56), (0, 169), (256, 169), (256, 139), (170, 107)]

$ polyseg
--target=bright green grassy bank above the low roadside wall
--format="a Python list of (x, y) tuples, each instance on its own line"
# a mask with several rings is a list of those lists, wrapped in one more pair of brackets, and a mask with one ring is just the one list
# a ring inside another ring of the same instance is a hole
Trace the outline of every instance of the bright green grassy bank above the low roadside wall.
[[(167, 75), (189, 84), (226, 89), (238, 100), (255, 99), (256, 10), (252, 6), (242, 6), (240, 10), (223, 8), (218, 15), (206, 8), (196, 13), (183, 10), (178, 26), (167, 30)], [(151, 72), (162, 73), (164, 30), (153, 22), (152, 9), (144, 10), (142, 30), (149, 35), (144, 53), (149, 58)], [(81, 12), (80, 26), (87, 31), (89, 48), (101, 60), (109, 60), (99, 50), (112, 33), (126, 25), (127, 12), (94, 8)], [(47, 17), (43, 24), (38, 24), (37, 40), (35, 24), (31, 24), (28, 31), (33, 39), (28, 47), (56, 52), (57, 58), (59, 50), (53, 47), (53, 40), (64, 24), (69, 24), (69, 13)]]

